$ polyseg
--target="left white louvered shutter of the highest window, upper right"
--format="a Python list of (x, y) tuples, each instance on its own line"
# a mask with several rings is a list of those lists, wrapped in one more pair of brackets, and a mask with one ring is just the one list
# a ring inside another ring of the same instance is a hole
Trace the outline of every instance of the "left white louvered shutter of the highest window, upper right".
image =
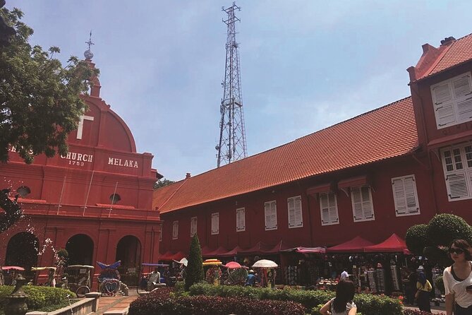
[(444, 128), (456, 122), (454, 102), (452, 100), (449, 81), (431, 87), (432, 104), (435, 109), (437, 129)]

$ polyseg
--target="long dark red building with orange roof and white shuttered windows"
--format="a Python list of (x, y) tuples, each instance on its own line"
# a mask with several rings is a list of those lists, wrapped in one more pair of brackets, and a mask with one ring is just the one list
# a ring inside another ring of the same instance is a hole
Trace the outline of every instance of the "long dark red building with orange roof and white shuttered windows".
[(157, 189), (162, 258), (195, 233), (233, 258), (379, 243), (437, 213), (472, 223), (472, 35), (423, 45), (408, 71), (411, 97)]

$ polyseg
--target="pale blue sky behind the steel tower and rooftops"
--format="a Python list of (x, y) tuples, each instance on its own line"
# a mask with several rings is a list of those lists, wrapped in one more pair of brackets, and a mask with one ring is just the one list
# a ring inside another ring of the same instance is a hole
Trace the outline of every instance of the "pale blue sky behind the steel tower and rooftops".
[[(83, 57), (92, 30), (101, 96), (167, 179), (216, 167), (231, 1), (7, 0), (31, 41)], [(472, 1), (241, 0), (248, 154), (409, 95), (421, 45), (472, 32)]]

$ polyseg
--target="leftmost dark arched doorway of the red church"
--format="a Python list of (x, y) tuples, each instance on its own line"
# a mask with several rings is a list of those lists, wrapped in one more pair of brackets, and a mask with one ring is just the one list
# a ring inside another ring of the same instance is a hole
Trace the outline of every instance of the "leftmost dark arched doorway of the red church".
[(30, 232), (15, 234), (8, 241), (4, 266), (20, 266), (29, 271), (37, 266), (40, 241)]

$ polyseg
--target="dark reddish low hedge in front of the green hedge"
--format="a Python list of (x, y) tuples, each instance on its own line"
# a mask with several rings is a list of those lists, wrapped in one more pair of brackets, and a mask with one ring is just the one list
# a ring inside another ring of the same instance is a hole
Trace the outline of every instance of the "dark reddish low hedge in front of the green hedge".
[(248, 299), (246, 297), (173, 297), (171, 290), (159, 289), (131, 302), (129, 315), (305, 315), (303, 305), (291, 301)]

